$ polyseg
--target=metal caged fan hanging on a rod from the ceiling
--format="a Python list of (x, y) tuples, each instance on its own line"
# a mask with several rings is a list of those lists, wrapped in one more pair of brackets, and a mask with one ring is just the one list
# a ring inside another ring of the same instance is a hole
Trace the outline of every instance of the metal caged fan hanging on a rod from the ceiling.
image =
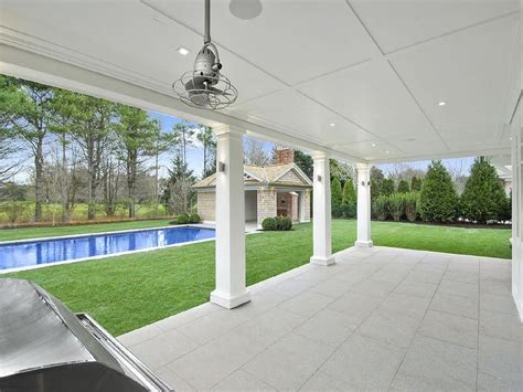
[(174, 81), (172, 88), (185, 105), (204, 109), (223, 109), (238, 97), (238, 91), (221, 74), (220, 54), (211, 41), (211, 0), (205, 0), (203, 47), (198, 52), (192, 71)]

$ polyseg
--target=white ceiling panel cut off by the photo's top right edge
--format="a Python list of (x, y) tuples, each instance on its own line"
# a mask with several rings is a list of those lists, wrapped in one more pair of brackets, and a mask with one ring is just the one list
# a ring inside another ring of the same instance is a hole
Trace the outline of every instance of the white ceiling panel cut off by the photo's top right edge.
[(517, 0), (351, 1), (385, 53), (517, 12)]

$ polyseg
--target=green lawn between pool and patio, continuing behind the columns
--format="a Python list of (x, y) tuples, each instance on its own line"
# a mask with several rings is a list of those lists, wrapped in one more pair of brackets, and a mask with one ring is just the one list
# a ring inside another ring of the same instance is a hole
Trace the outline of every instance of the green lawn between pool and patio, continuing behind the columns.
[[(126, 224), (132, 223), (145, 222)], [(334, 252), (354, 243), (355, 221), (335, 220), (332, 226)], [(511, 257), (510, 235), (510, 230), (372, 223), (375, 245), (504, 258)], [(306, 264), (311, 252), (311, 224), (297, 225), (291, 232), (248, 235), (247, 284)], [(110, 332), (120, 335), (206, 301), (214, 288), (214, 242), (7, 276), (36, 282), (73, 311), (86, 311)]]

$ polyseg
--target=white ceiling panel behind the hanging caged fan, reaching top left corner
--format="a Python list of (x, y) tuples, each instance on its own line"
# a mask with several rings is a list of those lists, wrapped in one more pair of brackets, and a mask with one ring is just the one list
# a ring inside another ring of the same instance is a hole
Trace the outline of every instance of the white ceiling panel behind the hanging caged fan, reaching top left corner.
[[(115, 21), (122, 20), (126, 23)], [(193, 67), (202, 38), (138, 1), (10, 2), (2, 22), (53, 42), (62, 55), (82, 57), (116, 74), (149, 81), (170, 92), (172, 82)], [(140, 27), (137, 29), (137, 27)], [(177, 52), (191, 50), (188, 56)], [(221, 51), (226, 75), (238, 87), (239, 102), (282, 87), (282, 84), (230, 52)]]

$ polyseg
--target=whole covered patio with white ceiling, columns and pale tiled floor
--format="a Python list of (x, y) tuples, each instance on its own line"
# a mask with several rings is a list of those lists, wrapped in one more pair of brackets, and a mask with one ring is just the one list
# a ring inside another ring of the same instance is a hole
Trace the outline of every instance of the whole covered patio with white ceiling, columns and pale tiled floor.
[[(2, 2), (1, 73), (216, 135), (210, 303), (121, 341), (181, 391), (523, 389), (519, 2), (262, 3), (245, 21), (213, 1), (223, 71), (241, 92), (216, 112), (171, 89), (201, 47), (203, 1)], [(310, 264), (253, 287), (244, 135), (314, 166)], [(506, 153), (512, 263), (373, 247), (373, 165)], [(357, 241), (335, 255), (329, 159), (357, 168)]]

